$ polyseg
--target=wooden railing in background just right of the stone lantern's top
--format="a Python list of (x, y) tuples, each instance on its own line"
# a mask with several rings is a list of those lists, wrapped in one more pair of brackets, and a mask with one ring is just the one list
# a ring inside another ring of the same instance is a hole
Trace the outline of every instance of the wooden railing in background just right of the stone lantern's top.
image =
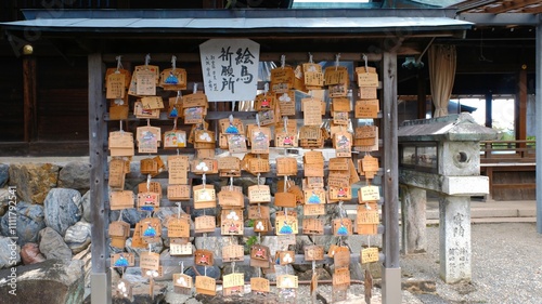
[(481, 163), (535, 162), (535, 141), (487, 141), (480, 143)]

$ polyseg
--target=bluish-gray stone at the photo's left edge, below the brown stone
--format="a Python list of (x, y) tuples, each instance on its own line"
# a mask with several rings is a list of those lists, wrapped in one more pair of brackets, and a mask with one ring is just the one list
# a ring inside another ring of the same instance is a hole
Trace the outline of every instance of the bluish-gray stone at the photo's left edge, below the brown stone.
[(0, 227), (4, 236), (11, 237), (11, 233), (15, 232), (20, 246), (27, 242), (37, 242), (39, 232), (46, 227), (43, 207), (20, 201), (13, 213), (7, 212), (2, 216)]

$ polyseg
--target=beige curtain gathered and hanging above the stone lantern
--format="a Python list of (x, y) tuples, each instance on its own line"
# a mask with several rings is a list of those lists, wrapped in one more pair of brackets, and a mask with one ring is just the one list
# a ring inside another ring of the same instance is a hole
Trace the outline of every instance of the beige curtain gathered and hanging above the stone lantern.
[(429, 48), (429, 79), (435, 116), (448, 115), (448, 103), (455, 79), (455, 45), (433, 44)]

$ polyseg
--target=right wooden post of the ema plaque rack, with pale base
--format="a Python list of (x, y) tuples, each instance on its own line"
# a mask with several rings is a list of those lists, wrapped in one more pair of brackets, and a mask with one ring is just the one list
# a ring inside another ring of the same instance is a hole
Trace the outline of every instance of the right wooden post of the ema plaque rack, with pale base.
[(384, 206), (385, 226), (383, 250), (382, 303), (401, 303), (401, 266), (399, 264), (399, 169), (397, 141), (397, 53), (384, 53), (383, 77), (383, 142), (384, 142)]

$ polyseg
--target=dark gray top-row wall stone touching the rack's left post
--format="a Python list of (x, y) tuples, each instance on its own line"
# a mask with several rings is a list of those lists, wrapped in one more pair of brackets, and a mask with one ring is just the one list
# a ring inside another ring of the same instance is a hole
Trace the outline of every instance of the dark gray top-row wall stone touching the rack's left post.
[(82, 194), (90, 188), (90, 169), (88, 162), (73, 161), (66, 163), (59, 173), (59, 187), (77, 189)]

